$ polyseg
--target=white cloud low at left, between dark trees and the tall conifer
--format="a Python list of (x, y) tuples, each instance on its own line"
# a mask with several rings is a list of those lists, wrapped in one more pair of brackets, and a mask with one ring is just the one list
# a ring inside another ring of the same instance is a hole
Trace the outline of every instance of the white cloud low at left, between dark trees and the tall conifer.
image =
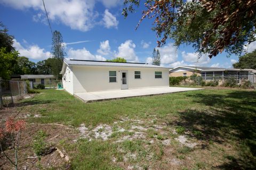
[(23, 47), (16, 39), (13, 39), (13, 47), (19, 51), (20, 56), (25, 56), (30, 59), (45, 60), (51, 56), (44, 48), (38, 45), (29, 45), (28, 48)]

